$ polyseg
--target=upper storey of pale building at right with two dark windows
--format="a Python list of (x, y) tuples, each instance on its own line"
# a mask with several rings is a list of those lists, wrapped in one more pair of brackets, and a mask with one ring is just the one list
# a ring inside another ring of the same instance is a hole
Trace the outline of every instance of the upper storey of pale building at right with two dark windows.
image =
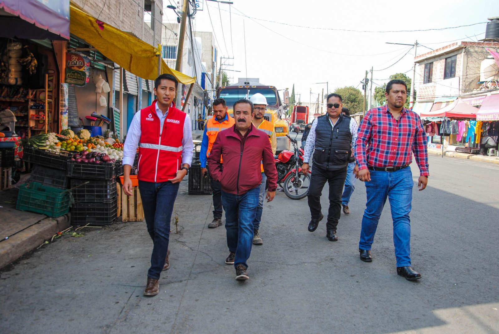
[[(483, 90), (482, 62), (491, 56), (486, 47), (498, 50), (499, 42), (455, 42), (415, 57), (416, 101), (460, 96)], [(496, 72), (496, 73), (494, 73)]]

